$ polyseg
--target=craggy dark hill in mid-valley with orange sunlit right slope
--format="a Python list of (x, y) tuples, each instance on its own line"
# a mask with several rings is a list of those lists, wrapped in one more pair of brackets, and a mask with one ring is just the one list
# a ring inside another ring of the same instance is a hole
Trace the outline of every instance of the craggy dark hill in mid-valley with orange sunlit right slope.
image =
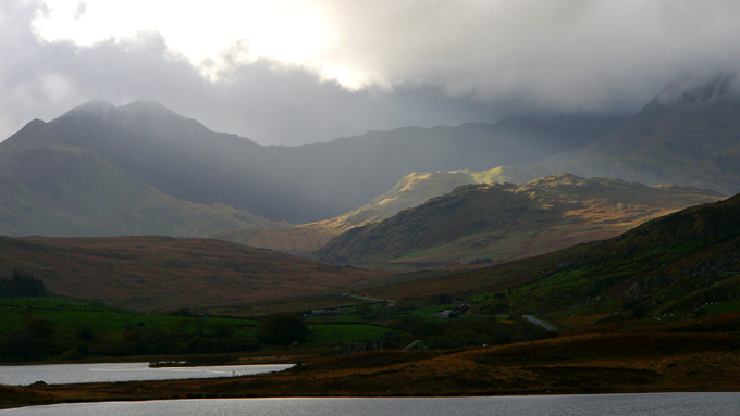
[(720, 198), (688, 187), (648, 187), (570, 174), (523, 186), (469, 185), (350, 229), (316, 257), (392, 268), (509, 261), (614, 237), (650, 218)]

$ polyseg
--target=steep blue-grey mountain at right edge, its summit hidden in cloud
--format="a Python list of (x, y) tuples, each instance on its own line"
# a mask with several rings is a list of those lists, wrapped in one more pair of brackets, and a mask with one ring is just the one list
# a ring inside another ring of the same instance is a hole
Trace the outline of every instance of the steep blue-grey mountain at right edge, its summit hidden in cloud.
[(643, 184), (740, 191), (740, 93), (736, 77), (666, 86), (638, 114), (597, 141), (538, 165)]

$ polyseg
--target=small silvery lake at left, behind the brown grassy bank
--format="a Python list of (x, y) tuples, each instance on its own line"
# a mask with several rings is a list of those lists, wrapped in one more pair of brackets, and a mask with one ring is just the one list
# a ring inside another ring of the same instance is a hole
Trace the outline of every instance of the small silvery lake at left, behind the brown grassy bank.
[(44, 381), (47, 385), (66, 385), (235, 377), (282, 371), (292, 366), (293, 364), (271, 364), (150, 368), (149, 363), (13, 365), (0, 366), (0, 385), (26, 386), (36, 381)]

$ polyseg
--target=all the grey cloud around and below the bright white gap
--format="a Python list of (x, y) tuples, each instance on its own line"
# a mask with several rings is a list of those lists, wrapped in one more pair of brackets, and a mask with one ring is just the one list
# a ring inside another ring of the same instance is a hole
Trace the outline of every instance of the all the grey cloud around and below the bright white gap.
[[(39, 2), (3, 0), (0, 137), (88, 100), (146, 99), (214, 130), (297, 144), (511, 112), (636, 111), (670, 79), (740, 64), (733, 1), (321, 4), (341, 39), (324, 58), (363, 72), (365, 88), (269, 60), (234, 63), (210, 81), (158, 33), (48, 43), (29, 28)], [(84, 13), (81, 2), (76, 15)]]

